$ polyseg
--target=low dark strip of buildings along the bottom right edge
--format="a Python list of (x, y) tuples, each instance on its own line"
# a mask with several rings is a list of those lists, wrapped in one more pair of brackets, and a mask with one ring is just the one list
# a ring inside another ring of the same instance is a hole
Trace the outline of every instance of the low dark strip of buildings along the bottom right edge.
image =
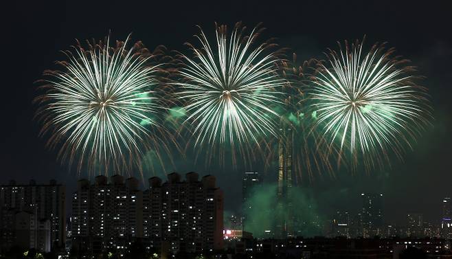
[(425, 257), (410, 259), (452, 258), (450, 240), (442, 238), (267, 238), (253, 240), (253, 249), (245, 252), (248, 258), (397, 259), (411, 247), (425, 252)]

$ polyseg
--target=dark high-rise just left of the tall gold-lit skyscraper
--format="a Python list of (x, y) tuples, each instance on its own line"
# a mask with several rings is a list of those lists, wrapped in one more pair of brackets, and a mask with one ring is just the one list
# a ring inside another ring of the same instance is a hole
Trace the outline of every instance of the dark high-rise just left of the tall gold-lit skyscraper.
[(246, 223), (252, 218), (247, 218), (252, 209), (249, 199), (253, 195), (254, 189), (262, 183), (258, 172), (245, 172), (242, 177), (242, 229), (246, 229)]

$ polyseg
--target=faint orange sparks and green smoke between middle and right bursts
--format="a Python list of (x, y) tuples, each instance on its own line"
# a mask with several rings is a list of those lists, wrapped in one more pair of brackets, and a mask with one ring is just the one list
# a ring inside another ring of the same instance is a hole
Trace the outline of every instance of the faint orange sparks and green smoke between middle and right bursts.
[(307, 94), (312, 87), (307, 71), (317, 60), (305, 61), (299, 67), (295, 65), (296, 62), (296, 55), (293, 54), (292, 62), (282, 60), (278, 63), (278, 73), (286, 79), (286, 84), (280, 95), (282, 101), (273, 107), (280, 114), (279, 131), (277, 137), (267, 140), (264, 157), (266, 167), (270, 167), (271, 161), (282, 151), (284, 156), (291, 157), (295, 182), (304, 181), (305, 177), (308, 181), (314, 181), (323, 174), (335, 177), (333, 164), (338, 161), (339, 168), (339, 148), (330, 145), (324, 135), (317, 132), (313, 100)]

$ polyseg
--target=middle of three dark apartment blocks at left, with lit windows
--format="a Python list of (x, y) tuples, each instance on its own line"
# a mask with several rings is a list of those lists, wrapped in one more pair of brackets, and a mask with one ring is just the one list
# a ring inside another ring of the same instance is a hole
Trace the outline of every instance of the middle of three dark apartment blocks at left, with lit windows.
[(99, 253), (104, 249), (126, 249), (142, 238), (142, 191), (138, 180), (120, 175), (95, 177), (95, 183), (78, 181), (72, 196), (71, 235), (73, 248)]

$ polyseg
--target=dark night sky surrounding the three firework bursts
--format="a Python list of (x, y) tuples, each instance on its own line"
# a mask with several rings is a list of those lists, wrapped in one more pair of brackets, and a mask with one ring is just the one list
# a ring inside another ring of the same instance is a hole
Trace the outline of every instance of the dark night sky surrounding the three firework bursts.
[[(422, 85), (429, 88), (435, 109), (433, 127), (414, 144), (404, 162), (394, 161), (384, 172), (341, 172), (337, 179), (317, 179), (306, 183), (315, 195), (317, 207), (329, 214), (335, 209), (356, 210), (359, 193), (385, 194), (385, 218), (403, 223), (407, 212), (422, 212), (435, 222), (440, 218), (440, 201), (452, 196), (452, 6), (450, 1), (16, 1), (3, 3), (1, 19), (1, 156), (0, 183), (9, 179), (47, 182), (57, 179), (74, 190), (77, 175), (68, 173), (45, 149), (38, 138), (38, 123), (32, 120), (36, 107), (35, 80), (44, 69), (55, 68), (75, 38), (123, 40), (129, 33), (134, 41), (144, 41), (153, 49), (185, 50), (183, 43), (201, 25), (213, 32), (214, 21), (229, 26), (243, 21), (248, 27), (262, 22), (264, 37), (278, 38), (282, 47), (291, 47), (300, 58), (321, 58), (337, 41), (361, 39), (369, 45), (387, 41), (397, 53), (412, 60)], [(419, 3), (418, 3), (419, 2)], [(248, 168), (205, 168), (190, 161), (179, 162), (177, 170), (211, 173), (225, 190), (227, 210), (236, 210), (240, 201), (243, 170)], [(275, 172), (267, 172), (273, 179)], [(149, 177), (151, 173), (146, 173)]]

